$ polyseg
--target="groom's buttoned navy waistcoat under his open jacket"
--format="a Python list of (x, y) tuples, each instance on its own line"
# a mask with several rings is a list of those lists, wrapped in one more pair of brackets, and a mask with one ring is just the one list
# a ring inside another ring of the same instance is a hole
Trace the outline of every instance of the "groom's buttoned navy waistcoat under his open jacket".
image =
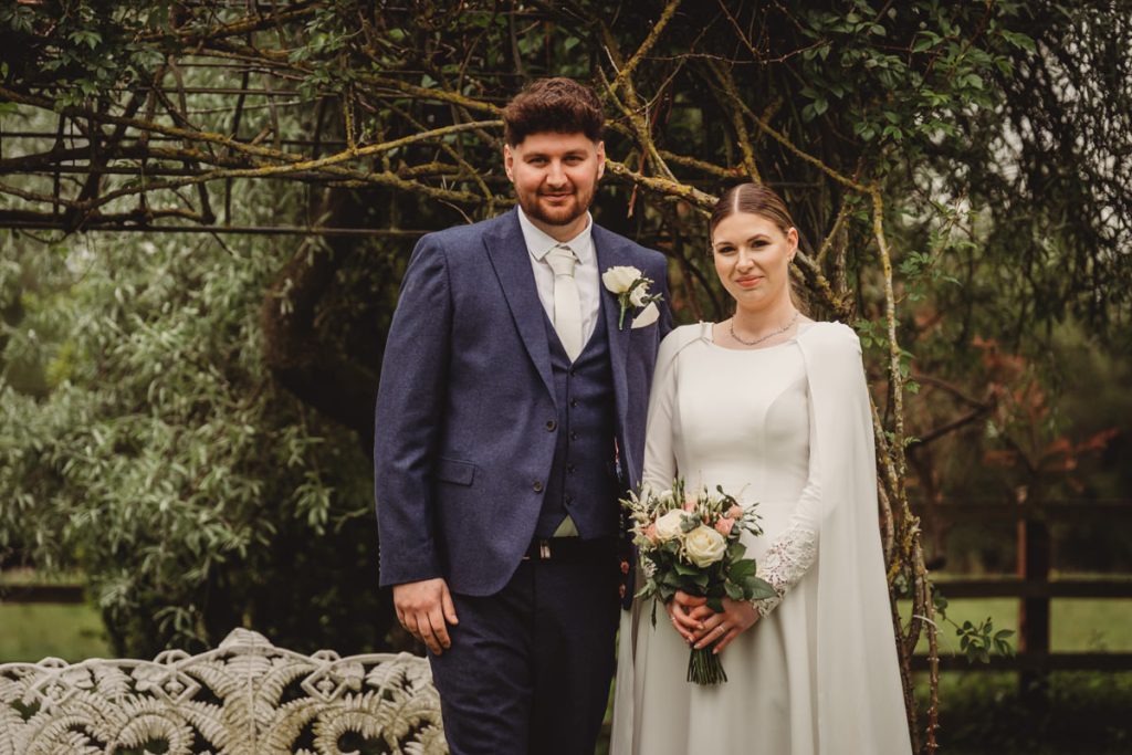
[(569, 514), (582, 538), (616, 537), (620, 522), (619, 486), (614, 466), (617, 406), (604, 308), (593, 336), (572, 363), (550, 320), (550, 368), (558, 409), (554, 464), (535, 535), (549, 538)]

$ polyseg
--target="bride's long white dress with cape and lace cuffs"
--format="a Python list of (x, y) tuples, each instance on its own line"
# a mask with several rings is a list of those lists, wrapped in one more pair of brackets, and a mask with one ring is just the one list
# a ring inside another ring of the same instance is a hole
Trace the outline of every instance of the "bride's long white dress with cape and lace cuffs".
[[(698, 324), (677, 328), (661, 345), (644, 483), (667, 489), (680, 475), (689, 488), (722, 486), (743, 503), (757, 503), (764, 534), (744, 534), (744, 541), (747, 555), (758, 561), (760, 576), (779, 597), (758, 601), (760, 620), (723, 651), (728, 681), (718, 686), (685, 681), (688, 646), (663, 607), (657, 607), (655, 626), (651, 604), (626, 614), (615, 755), (910, 752), (876, 534), (875, 487), (864, 530), (860, 517), (843, 516), (859, 501), (844, 490), (823, 495), (824, 486), (847, 480), (824, 470), (826, 461), (842, 471), (846, 462), (838, 441), (829, 441), (830, 447), (821, 441), (832, 437), (820, 429), (822, 423), (860, 421), (825, 411), (844, 403), (843, 396), (822, 398), (815, 409), (814, 394), (822, 395), (815, 388), (829, 383), (830, 391), (841, 391), (840, 380), (824, 375), (823, 383), (815, 370), (842, 369), (846, 361), (843, 378), (859, 379), (863, 387), (856, 336), (835, 324), (807, 325), (787, 343), (749, 351), (713, 343), (711, 324)], [(859, 403), (860, 396), (854, 401)], [(864, 443), (858, 440), (856, 445)], [(871, 435), (867, 440), (865, 458), (871, 460)], [(859, 467), (860, 455), (854, 456)], [(875, 486), (871, 464), (867, 473)], [(841, 503), (831, 504), (834, 499)], [(872, 537), (861, 535), (869, 522)], [(830, 543), (830, 549), (823, 542), (861, 537), (864, 542)], [(827, 580), (823, 589), (823, 575), (834, 569), (864, 577), (868, 585), (848, 589)], [(864, 611), (880, 615), (865, 617)], [(832, 629), (834, 624), (840, 627)], [(841, 628), (848, 642), (831, 637)], [(876, 633), (881, 636), (869, 636)], [(831, 653), (846, 652), (858, 652), (860, 659), (848, 666), (831, 661)], [(855, 674), (875, 678), (844, 678)]]

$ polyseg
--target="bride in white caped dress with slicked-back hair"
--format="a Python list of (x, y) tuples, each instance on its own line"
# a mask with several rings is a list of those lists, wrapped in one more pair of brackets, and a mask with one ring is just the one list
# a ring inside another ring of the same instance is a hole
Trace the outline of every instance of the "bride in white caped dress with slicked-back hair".
[[(906, 755), (860, 344), (796, 307), (798, 232), (771, 189), (728, 190), (711, 248), (735, 316), (661, 344), (644, 484), (667, 489), (680, 475), (757, 503), (764, 533), (744, 542), (777, 595), (724, 599), (717, 614), (677, 593), (655, 626), (651, 606), (634, 606), (621, 621), (611, 752)], [(685, 681), (689, 644), (712, 643), (729, 681)]]

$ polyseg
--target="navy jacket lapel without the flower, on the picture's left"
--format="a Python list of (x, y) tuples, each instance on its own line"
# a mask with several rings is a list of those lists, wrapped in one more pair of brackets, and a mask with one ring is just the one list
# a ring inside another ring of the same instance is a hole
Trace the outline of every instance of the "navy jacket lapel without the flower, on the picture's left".
[(516, 212), (513, 209), (506, 222), (501, 223), (501, 230), (486, 235), (483, 242), (523, 345), (554, 398), (555, 384), (550, 374), (550, 346), (547, 343), (542, 302), (539, 300), (534, 273), (531, 271), (531, 255), (526, 250)]

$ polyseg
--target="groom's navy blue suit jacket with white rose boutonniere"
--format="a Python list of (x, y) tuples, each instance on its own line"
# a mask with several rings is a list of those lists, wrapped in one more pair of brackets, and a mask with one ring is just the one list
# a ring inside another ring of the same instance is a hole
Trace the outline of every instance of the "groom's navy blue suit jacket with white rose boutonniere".
[[(663, 255), (593, 226), (598, 269), (640, 268), (659, 320), (617, 326), (601, 286), (625, 482), (636, 488), (660, 340), (671, 328)], [(424, 235), (389, 328), (377, 395), (374, 473), (380, 583), (444, 577), (489, 595), (534, 534), (557, 417), (544, 314), (517, 211)], [(609, 505), (616, 506), (616, 501)]]

